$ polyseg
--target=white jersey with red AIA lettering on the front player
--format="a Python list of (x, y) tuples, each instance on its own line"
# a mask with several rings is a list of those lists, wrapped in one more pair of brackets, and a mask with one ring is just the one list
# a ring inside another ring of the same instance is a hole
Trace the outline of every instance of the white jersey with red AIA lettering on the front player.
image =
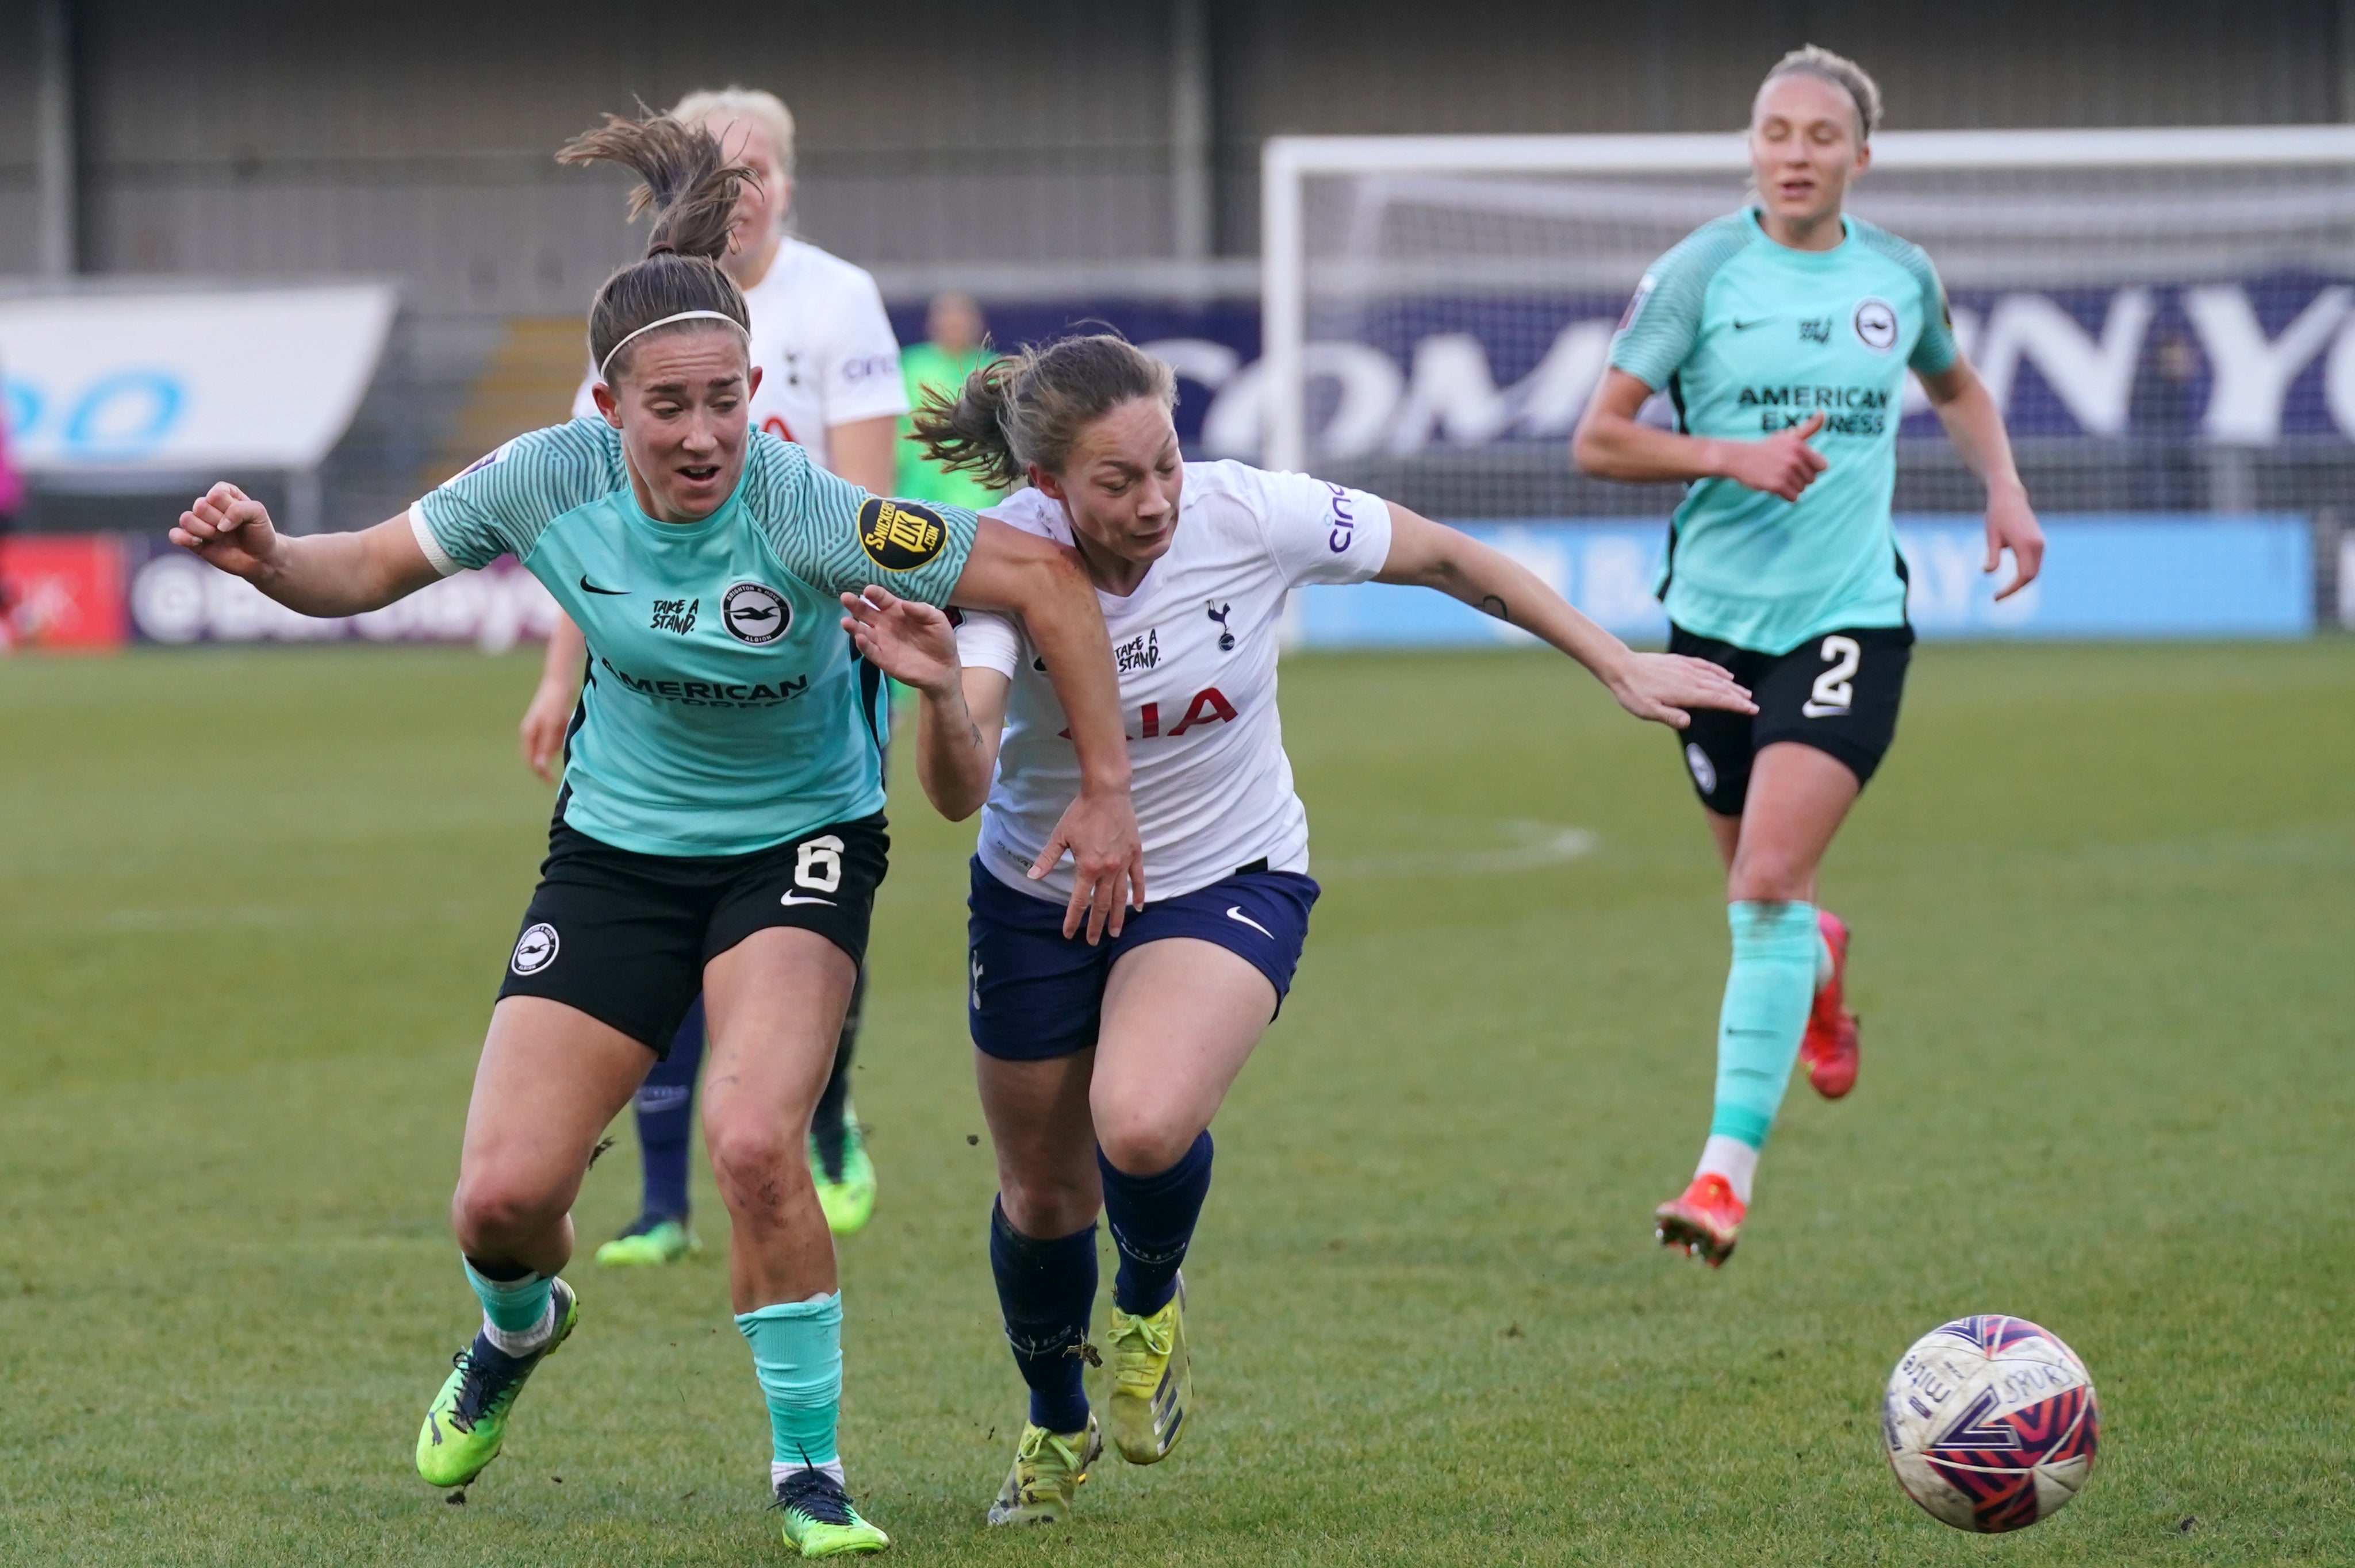
[[(1036, 490), (982, 516), (1072, 544), (1062, 504)], [(1168, 553), (1128, 598), (1095, 596), (1121, 678), (1147, 897), (1194, 892), (1260, 859), (1269, 871), (1309, 869), (1309, 822), (1276, 718), (1283, 600), (1298, 584), (1366, 582), (1387, 558), (1389, 506), (1375, 494), (1236, 461), (1185, 466)], [(966, 666), (1013, 676), (982, 864), (1008, 888), (1067, 899), (1069, 859), (1041, 883), (1027, 876), (1079, 793), (1062, 704), (1020, 622), (961, 614)]]

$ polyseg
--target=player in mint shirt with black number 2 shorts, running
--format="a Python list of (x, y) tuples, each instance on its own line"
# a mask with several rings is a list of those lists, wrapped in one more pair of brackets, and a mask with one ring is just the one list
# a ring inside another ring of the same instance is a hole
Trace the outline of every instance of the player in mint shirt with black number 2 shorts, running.
[[(1656, 1210), (1665, 1245), (1733, 1255), (1792, 1064), (1827, 1099), (1856, 1083), (1849, 930), (1816, 869), (1896, 737), (1912, 629), (1889, 520), (1905, 372), (1988, 487), (1988, 572), (2028, 586), (2044, 534), (1995, 398), (1955, 346), (1919, 247), (1844, 217), (1872, 162), (1879, 87), (1813, 45), (1750, 111), (1757, 205), (1693, 231), (1637, 287), (1578, 426), (1599, 478), (1686, 480), (1670, 525), (1670, 647), (1724, 664), (1757, 716), (1693, 713), (1679, 739), (1726, 862), (1733, 968), (1700, 1168)], [(1637, 421), (1665, 391), (1677, 428)]]

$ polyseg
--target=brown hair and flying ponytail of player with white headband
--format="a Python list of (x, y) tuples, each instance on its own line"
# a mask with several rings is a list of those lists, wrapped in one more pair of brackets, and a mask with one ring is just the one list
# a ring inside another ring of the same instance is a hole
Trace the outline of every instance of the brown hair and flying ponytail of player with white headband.
[[(631, 261), (605, 278), (589, 308), (589, 360), (615, 381), (629, 365), (605, 360), (615, 346), (641, 327), (681, 311), (716, 311), (751, 332), (744, 292), (725, 271), (730, 219), (737, 186), (751, 170), (730, 165), (718, 139), (669, 115), (624, 120), (605, 115), (605, 125), (568, 141), (556, 162), (619, 162), (638, 174), (629, 193), (629, 217), (652, 210), (645, 259)], [(678, 332), (718, 323), (678, 323)], [(636, 348), (636, 344), (631, 344)]]

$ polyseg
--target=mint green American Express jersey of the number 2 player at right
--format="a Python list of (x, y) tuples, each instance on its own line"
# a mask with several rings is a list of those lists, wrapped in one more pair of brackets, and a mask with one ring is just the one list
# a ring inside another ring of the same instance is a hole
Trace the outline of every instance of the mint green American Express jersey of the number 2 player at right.
[(1797, 501), (1696, 480), (1670, 523), (1660, 600), (1705, 638), (1780, 655), (1844, 626), (1905, 624), (1889, 504), (1905, 370), (1957, 360), (1938, 271), (1846, 219), (1832, 250), (1790, 250), (1736, 212), (1653, 261), (1611, 365), (1677, 405), (1691, 436), (1759, 440), (1823, 414), (1830, 466)]

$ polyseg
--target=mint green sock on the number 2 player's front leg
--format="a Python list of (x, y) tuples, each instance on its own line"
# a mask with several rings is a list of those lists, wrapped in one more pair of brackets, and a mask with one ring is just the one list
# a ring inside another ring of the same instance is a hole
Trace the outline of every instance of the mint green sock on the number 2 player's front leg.
[(1710, 1132), (1762, 1149), (1806, 1038), (1823, 944), (1813, 904), (1736, 902), (1726, 906), (1726, 923), (1733, 928), (1733, 970), (1717, 1015), (1717, 1114)]

